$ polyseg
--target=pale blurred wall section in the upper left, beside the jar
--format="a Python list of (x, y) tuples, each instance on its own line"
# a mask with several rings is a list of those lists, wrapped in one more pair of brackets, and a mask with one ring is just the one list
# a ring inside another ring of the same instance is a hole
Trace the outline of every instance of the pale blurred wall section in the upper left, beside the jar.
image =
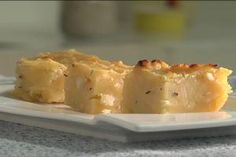
[(60, 1), (1, 1), (0, 29), (57, 31)]

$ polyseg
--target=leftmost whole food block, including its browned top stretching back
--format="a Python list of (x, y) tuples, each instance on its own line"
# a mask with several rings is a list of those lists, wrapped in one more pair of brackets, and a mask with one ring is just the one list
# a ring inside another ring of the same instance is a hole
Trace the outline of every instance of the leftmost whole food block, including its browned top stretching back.
[(75, 50), (45, 52), (34, 58), (21, 59), (16, 65), (15, 96), (41, 103), (64, 102), (67, 66), (80, 60), (109, 64), (96, 56)]

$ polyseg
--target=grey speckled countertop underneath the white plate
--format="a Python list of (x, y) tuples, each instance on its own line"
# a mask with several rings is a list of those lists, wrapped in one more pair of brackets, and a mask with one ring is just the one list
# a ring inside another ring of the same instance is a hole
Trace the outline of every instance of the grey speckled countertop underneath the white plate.
[(236, 137), (118, 143), (0, 121), (0, 156), (232, 157)]

